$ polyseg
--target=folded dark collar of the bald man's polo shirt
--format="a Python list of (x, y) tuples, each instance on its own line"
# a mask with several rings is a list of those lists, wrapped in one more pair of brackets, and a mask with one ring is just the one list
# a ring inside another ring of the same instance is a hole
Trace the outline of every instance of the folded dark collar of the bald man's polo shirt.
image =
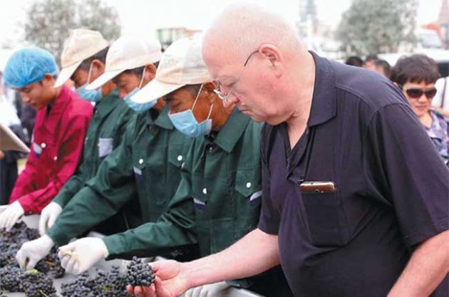
[(315, 85), (307, 126), (326, 123), (336, 115), (336, 77), (326, 58), (310, 51), (315, 61)]

